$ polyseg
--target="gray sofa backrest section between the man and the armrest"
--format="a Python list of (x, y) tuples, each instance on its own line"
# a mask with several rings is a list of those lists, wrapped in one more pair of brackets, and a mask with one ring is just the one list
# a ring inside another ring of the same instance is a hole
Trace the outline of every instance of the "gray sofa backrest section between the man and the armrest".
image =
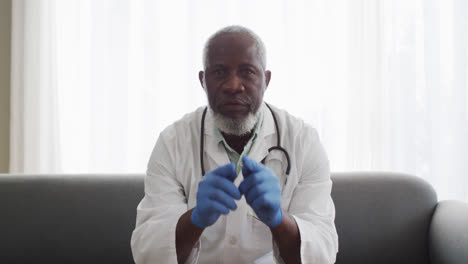
[(424, 180), (399, 173), (334, 173), (339, 238), (336, 263), (429, 263), (437, 196)]

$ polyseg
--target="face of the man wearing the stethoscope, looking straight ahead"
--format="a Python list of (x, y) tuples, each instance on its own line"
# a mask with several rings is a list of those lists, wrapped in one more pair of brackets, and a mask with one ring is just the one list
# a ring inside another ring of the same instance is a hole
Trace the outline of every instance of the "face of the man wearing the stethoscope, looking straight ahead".
[(214, 39), (205, 72), (199, 73), (213, 111), (237, 120), (257, 112), (270, 76), (262, 67), (255, 41), (242, 33)]

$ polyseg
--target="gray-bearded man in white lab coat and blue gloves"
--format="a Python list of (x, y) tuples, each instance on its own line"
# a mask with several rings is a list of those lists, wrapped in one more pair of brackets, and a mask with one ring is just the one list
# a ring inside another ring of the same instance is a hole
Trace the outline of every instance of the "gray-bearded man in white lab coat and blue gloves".
[(262, 40), (223, 28), (203, 62), (208, 106), (167, 127), (151, 155), (136, 263), (334, 263), (329, 162), (314, 128), (263, 101)]

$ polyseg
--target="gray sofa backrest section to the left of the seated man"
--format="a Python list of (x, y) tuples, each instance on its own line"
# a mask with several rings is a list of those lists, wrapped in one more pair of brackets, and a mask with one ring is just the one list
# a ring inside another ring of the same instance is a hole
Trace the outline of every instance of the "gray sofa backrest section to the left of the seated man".
[(0, 263), (133, 263), (143, 175), (0, 176)]

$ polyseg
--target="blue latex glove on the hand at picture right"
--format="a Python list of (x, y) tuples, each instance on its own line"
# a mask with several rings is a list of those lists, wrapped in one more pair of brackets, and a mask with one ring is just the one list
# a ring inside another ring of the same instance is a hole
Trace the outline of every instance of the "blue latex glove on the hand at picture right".
[(281, 209), (281, 187), (275, 173), (261, 163), (247, 156), (242, 157), (244, 181), (239, 190), (245, 195), (260, 220), (269, 227), (275, 227), (283, 221)]

